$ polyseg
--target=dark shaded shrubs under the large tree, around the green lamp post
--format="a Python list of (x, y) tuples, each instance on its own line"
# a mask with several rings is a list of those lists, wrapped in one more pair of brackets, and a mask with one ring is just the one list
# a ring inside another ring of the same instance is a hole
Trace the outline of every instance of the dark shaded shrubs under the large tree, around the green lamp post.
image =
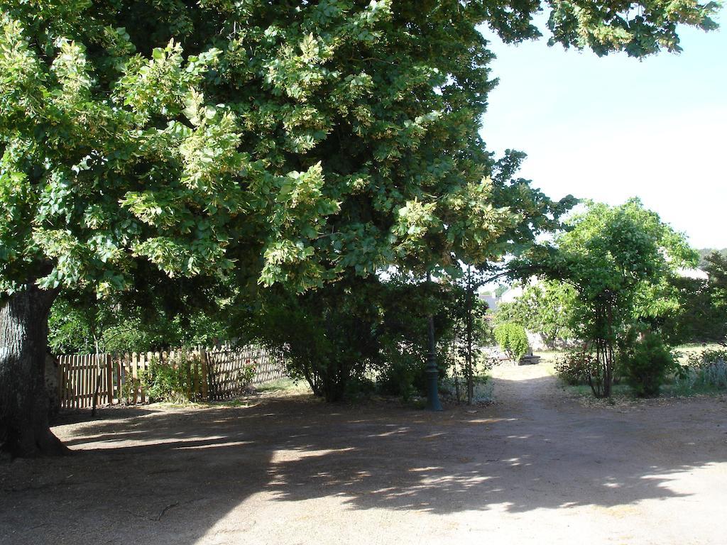
[(374, 377), (380, 392), (409, 397), (425, 389), (430, 314), (441, 374), (451, 365), (460, 296), (449, 284), (401, 275), (349, 278), (308, 294), (268, 293), (242, 328), (281, 350), (289, 374), (326, 400), (372, 389)]

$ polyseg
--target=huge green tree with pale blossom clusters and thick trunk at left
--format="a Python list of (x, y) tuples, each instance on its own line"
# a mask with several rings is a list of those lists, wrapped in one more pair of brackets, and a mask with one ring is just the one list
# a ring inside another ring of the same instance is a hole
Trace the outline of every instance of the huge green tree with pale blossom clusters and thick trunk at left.
[[(678, 23), (711, 28), (716, 9), (546, 5), (554, 42), (634, 56), (677, 50)], [(62, 450), (41, 392), (64, 288), (124, 290), (152, 266), (304, 291), (345, 270), (482, 262), (553, 211), (489, 178), (478, 137), (493, 82), (477, 27), (533, 38), (539, 1), (0, 8), (0, 443), (14, 453)]]

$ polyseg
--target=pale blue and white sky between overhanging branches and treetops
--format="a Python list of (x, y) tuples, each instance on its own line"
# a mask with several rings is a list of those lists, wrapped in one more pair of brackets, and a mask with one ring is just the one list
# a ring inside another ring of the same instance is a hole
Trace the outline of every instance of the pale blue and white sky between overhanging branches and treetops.
[(692, 246), (727, 247), (727, 28), (682, 28), (681, 54), (641, 61), (485, 35), (489, 149), (526, 152), (521, 176), (553, 198), (638, 196)]

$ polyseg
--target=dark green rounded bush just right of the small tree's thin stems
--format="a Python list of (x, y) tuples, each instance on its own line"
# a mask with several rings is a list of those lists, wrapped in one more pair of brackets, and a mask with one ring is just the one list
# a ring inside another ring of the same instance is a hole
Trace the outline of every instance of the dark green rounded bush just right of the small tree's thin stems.
[(637, 397), (656, 397), (675, 360), (659, 335), (649, 333), (621, 354), (621, 370)]

